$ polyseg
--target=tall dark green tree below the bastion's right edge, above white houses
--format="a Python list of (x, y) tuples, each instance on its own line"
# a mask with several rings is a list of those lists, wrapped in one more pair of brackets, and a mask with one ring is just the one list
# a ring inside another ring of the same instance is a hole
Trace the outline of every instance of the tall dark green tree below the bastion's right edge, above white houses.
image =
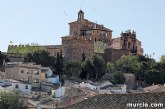
[(93, 65), (93, 72), (91, 76), (94, 78), (95, 81), (98, 81), (105, 74), (105, 69), (106, 69), (105, 62), (100, 56), (93, 55), (92, 65)]

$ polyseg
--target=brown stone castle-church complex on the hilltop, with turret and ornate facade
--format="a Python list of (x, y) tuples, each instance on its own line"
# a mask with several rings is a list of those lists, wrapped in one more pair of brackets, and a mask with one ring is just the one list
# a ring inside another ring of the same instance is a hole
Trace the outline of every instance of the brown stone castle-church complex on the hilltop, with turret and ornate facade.
[[(9, 45), (9, 49), (20, 46)], [(113, 38), (111, 29), (85, 19), (82, 10), (78, 12), (77, 20), (69, 23), (69, 35), (62, 37), (62, 45), (41, 47), (45, 47), (52, 56), (62, 51), (66, 61), (80, 61), (83, 53), (88, 58), (94, 53), (99, 54), (106, 62), (115, 62), (122, 55), (143, 55), (143, 48), (135, 31), (127, 30)]]

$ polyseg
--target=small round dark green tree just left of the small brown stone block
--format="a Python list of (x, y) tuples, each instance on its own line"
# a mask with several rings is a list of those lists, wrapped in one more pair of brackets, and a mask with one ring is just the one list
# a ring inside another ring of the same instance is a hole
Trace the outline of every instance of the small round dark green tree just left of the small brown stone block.
[(123, 84), (125, 80), (124, 74), (120, 71), (116, 71), (112, 74), (112, 83), (114, 84)]

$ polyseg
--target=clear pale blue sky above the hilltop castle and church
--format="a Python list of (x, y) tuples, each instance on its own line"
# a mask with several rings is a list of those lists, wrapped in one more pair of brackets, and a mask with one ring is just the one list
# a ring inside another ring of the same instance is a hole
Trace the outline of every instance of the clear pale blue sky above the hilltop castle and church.
[(86, 19), (112, 29), (113, 38), (135, 30), (144, 54), (156, 60), (165, 54), (165, 0), (0, 0), (0, 51), (10, 41), (61, 44), (80, 8)]

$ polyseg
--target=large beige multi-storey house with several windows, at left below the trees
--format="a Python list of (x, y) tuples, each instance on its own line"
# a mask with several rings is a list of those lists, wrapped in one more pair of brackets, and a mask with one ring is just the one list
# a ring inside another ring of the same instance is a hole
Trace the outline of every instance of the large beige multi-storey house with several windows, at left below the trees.
[[(5, 65), (5, 78), (21, 80), (32, 84), (32, 87), (40, 87), (41, 81), (47, 81), (47, 76), (53, 73), (49, 67), (41, 67), (34, 63), (8, 62)], [(50, 78), (49, 80), (52, 81)], [(58, 80), (56, 80), (58, 82)], [(55, 82), (55, 81), (53, 81)]]

